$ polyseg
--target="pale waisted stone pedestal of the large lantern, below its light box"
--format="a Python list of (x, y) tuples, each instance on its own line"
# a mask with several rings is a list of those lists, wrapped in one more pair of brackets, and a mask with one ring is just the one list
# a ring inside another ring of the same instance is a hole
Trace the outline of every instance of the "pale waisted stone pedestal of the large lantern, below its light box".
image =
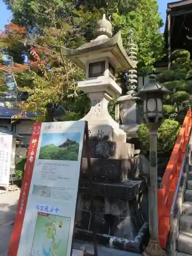
[(109, 101), (121, 93), (118, 84), (112, 78), (99, 77), (78, 82), (78, 88), (87, 93), (92, 102), (89, 113), (81, 119), (88, 121), (90, 139), (126, 142), (126, 133), (108, 112)]

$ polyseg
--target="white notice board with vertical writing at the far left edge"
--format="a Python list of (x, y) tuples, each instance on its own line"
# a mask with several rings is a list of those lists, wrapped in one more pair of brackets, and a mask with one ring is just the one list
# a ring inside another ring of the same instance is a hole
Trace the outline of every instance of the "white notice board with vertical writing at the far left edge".
[(0, 135), (0, 186), (9, 186), (12, 135)]

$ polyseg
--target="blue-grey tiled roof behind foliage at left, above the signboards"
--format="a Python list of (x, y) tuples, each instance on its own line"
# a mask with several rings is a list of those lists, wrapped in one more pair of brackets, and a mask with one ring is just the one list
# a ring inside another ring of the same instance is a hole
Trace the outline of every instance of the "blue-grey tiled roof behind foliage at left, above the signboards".
[[(19, 113), (22, 113), (20, 110), (13, 110), (13, 109), (8, 109), (5, 106), (0, 106), (0, 118), (11, 118), (14, 115), (18, 115)], [(64, 115), (65, 111), (61, 106), (58, 106), (55, 110), (54, 116), (59, 117), (61, 115)], [(38, 116), (40, 114), (37, 114)], [(34, 113), (27, 113), (27, 117), (23, 117), (23, 119), (30, 119), (32, 117), (35, 117)]]

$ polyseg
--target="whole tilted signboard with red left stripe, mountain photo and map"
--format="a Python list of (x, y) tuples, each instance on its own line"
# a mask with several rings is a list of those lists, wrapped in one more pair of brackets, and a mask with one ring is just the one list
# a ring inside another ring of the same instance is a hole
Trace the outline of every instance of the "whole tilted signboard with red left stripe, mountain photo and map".
[(8, 255), (71, 255), (84, 127), (34, 124)]

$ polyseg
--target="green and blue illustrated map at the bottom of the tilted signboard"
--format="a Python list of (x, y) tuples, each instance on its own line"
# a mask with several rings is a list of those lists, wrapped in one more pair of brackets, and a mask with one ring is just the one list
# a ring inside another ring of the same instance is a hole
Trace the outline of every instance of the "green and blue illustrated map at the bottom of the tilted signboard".
[(71, 218), (38, 212), (31, 256), (66, 256)]

